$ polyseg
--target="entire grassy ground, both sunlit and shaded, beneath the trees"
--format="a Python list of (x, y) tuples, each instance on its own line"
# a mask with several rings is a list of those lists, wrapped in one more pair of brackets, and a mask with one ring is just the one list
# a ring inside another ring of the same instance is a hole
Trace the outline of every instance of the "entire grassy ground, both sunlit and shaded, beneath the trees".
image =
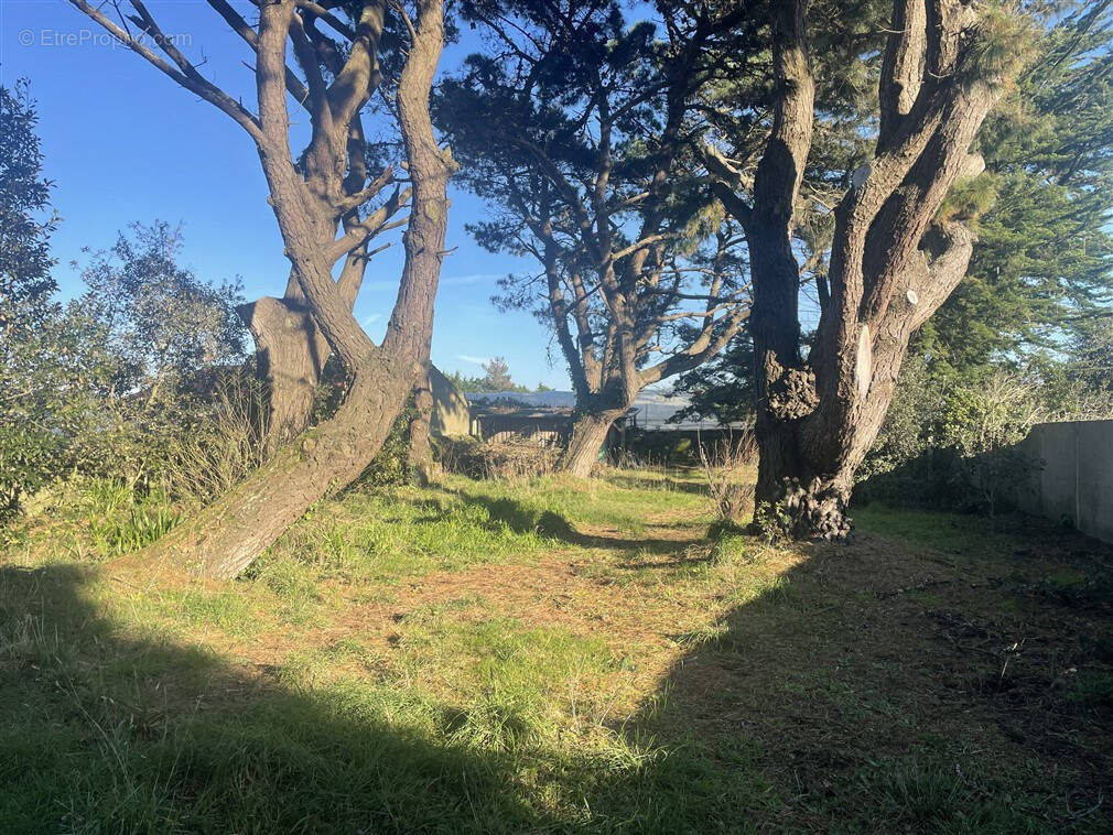
[(159, 513), (9, 533), (0, 832), (1113, 829), (1113, 549), (1041, 522), (447, 478), (152, 586)]

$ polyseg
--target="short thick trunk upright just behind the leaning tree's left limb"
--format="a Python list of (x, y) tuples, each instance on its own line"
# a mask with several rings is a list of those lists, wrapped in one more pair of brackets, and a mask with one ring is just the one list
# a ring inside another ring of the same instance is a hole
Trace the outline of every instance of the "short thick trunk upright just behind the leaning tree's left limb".
[(267, 440), (277, 446), (304, 432), (313, 414), (328, 343), (304, 306), (264, 296), (239, 314), (255, 337), (259, 379), (266, 386)]

